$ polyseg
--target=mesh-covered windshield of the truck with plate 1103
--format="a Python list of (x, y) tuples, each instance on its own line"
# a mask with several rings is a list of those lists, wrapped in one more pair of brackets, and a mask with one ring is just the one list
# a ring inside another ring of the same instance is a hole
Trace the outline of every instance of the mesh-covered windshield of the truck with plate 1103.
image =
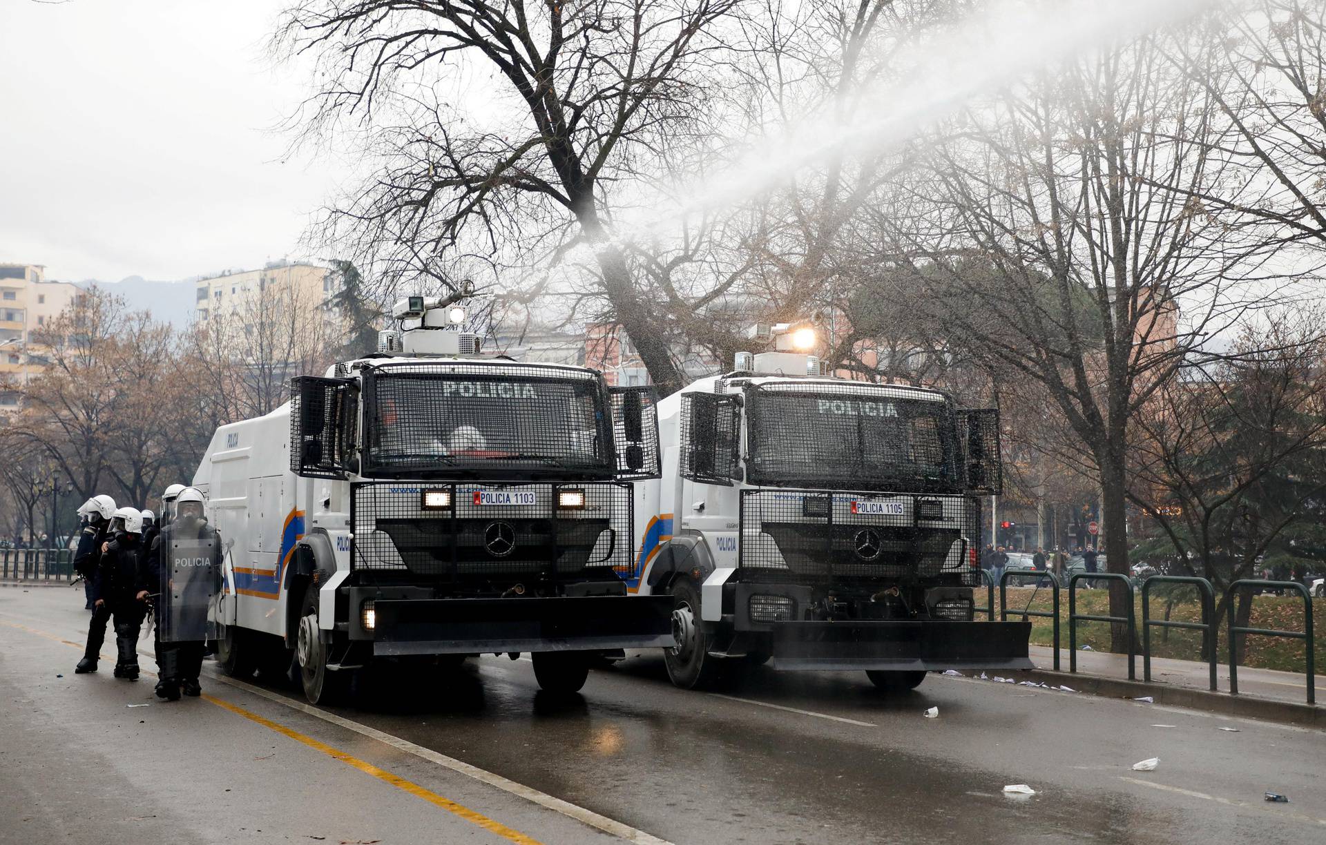
[(365, 474), (610, 477), (597, 372), (530, 364), (365, 368)]

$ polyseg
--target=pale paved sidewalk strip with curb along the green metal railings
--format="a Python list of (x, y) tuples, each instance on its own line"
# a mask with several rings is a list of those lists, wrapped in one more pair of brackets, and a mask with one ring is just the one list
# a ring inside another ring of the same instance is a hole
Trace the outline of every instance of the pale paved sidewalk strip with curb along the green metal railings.
[[(1128, 656), (1105, 652), (1078, 652), (1077, 673), (1069, 673), (1069, 650), (1059, 649), (1059, 671), (1054, 671), (1054, 649), (1029, 648), (1036, 669), (1021, 673), (1052, 685), (1065, 685), (1081, 693), (1140, 698), (1155, 703), (1195, 707), (1212, 713), (1272, 719), (1326, 727), (1326, 707), (1309, 705), (1306, 675), (1272, 669), (1238, 668), (1238, 695), (1229, 694), (1229, 665), (1216, 665), (1217, 691), (1209, 691), (1209, 664), (1154, 658), (1151, 683), (1144, 683), (1142, 656), (1136, 656), (1136, 681), (1128, 681)], [(1318, 695), (1326, 693), (1326, 675), (1317, 674)], [(1321, 701), (1321, 699), (1318, 699)]]

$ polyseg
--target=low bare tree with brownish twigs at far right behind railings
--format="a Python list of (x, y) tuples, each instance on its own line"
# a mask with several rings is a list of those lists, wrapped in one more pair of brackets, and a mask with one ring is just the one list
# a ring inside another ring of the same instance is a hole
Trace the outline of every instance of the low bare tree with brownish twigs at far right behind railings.
[(1317, 522), (1326, 494), (1321, 314), (1268, 322), (1244, 331), (1240, 355), (1167, 383), (1135, 422), (1128, 498), (1180, 571), (1217, 589), (1252, 576), (1290, 524)]

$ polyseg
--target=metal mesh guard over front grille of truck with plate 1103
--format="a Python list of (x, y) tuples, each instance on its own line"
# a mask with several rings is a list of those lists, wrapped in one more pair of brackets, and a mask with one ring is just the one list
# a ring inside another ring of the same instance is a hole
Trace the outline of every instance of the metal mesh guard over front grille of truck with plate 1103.
[[(426, 491), (446, 493), (446, 506), (434, 495), (424, 507)], [(634, 571), (625, 483), (371, 482), (354, 485), (350, 507), (354, 570), (467, 581)]]

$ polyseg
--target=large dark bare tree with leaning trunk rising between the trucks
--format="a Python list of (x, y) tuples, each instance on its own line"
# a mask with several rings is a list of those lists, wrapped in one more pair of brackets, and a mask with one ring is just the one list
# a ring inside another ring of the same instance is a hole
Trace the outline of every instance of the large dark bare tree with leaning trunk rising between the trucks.
[[(317, 57), (310, 132), (358, 124), (377, 172), (330, 217), (351, 256), (392, 279), (451, 283), (444, 250), (487, 240), (496, 266), (591, 250), (599, 295), (656, 383), (682, 377), (662, 309), (613, 232), (611, 195), (658, 144), (696, 131), (709, 29), (735, 0), (310, 0), (278, 42)], [(460, 113), (436, 87), (487, 72), (496, 115)], [(448, 75), (450, 74), (450, 75)], [(469, 240), (467, 240), (469, 238)]]

